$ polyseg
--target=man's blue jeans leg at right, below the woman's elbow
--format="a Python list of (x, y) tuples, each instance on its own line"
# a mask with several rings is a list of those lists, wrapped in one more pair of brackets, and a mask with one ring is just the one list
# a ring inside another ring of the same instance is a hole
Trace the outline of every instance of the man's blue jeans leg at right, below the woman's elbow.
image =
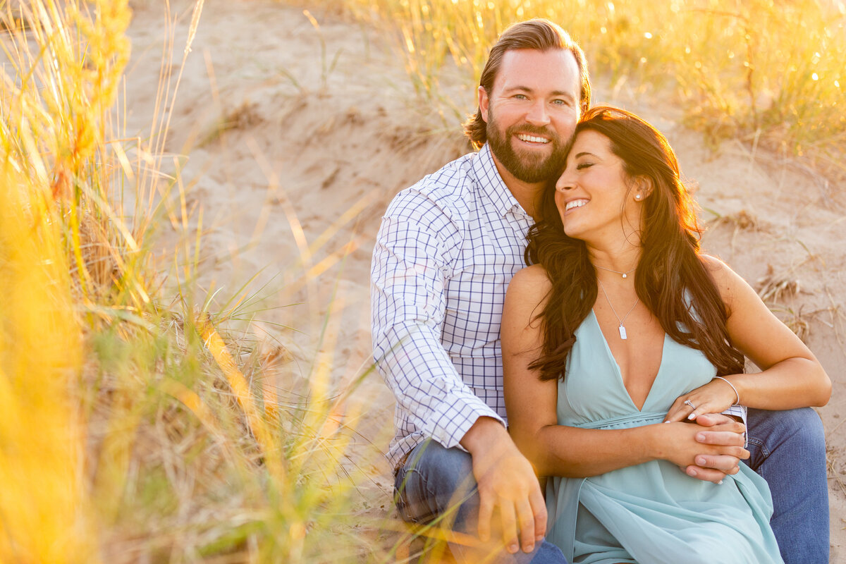
[(750, 409), (750, 468), (772, 491), (770, 524), (785, 564), (828, 564), (826, 441), (811, 408)]

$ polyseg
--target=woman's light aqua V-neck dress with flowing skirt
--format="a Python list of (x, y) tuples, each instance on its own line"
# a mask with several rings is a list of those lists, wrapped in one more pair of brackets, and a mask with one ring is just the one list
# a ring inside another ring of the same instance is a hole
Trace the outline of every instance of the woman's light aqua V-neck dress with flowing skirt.
[[(576, 330), (567, 365), (558, 423), (585, 429), (661, 423), (676, 397), (716, 375), (703, 353), (665, 335), (661, 366), (639, 411), (592, 310)], [(770, 490), (745, 464), (722, 485), (663, 460), (591, 478), (552, 478), (547, 510), (547, 539), (574, 564), (783, 562), (769, 525)]]

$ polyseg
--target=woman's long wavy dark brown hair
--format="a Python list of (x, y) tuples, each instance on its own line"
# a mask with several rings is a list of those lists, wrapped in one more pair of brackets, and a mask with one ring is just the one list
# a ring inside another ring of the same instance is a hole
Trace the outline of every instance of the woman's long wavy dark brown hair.
[[(679, 179), (678, 161), (664, 136), (633, 113), (594, 107), (575, 133), (591, 129), (611, 140), (629, 179), (649, 178), (643, 203), (642, 246), (634, 288), (674, 341), (702, 351), (717, 375), (743, 371), (744, 357), (728, 337), (728, 312), (700, 256), (702, 227), (695, 205)], [(530, 368), (541, 380), (563, 378), (575, 330), (596, 302), (596, 269), (584, 241), (564, 233), (550, 186), (541, 195), (541, 221), (530, 228), (526, 264), (541, 264), (552, 288), (541, 311), (541, 357)], [(621, 219), (622, 222), (622, 219)]]

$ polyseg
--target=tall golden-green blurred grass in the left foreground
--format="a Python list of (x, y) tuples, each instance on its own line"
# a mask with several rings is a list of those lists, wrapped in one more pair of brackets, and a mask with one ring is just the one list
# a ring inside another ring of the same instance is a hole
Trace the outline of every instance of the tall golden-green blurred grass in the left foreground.
[[(265, 360), (225, 329), (255, 296), (215, 313), (195, 295), (201, 216), (162, 172), (174, 20), (156, 123), (128, 140), (127, 1), (15, 6), (0, 3), (0, 561), (376, 558), (351, 532), (363, 470), (338, 468), (360, 408), (329, 385), (332, 359), (301, 395), (256, 386)], [(151, 250), (166, 225), (184, 233), (173, 266)]]

